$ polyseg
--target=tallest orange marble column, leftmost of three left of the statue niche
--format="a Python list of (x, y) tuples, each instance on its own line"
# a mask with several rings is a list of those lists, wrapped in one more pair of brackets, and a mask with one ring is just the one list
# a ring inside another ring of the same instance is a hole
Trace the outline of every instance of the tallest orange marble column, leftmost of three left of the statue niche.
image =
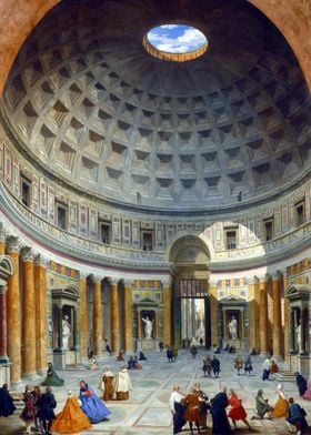
[(8, 355), (11, 361), (11, 388), (18, 390), (21, 384), (20, 247), (18, 237), (8, 237), (7, 250), (14, 264), (14, 274), (9, 277), (7, 291)]

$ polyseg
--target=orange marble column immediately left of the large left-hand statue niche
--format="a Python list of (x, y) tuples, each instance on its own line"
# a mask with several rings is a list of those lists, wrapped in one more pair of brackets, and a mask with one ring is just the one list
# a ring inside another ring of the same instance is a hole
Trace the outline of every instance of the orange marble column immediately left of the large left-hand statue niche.
[(34, 294), (36, 294), (36, 368), (40, 375), (47, 370), (47, 259), (37, 255), (34, 259)]

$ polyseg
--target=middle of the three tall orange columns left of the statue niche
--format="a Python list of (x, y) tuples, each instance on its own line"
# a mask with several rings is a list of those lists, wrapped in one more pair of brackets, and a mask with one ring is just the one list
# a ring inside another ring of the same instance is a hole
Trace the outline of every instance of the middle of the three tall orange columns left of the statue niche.
[(33, 253), (30, 247), (21, 251), (22, 260), (22, 373), (24, 376), (36, 374), (36, 308)]

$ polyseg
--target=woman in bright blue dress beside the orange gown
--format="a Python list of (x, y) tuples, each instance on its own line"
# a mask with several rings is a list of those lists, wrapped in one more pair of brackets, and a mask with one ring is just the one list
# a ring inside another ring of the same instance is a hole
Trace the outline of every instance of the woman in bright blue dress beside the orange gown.
[(79, 398), (81, 401), (81, 409), (91, 423), (99, 423), (111, 414), (104, 403), (84, 381), (80, 382)]

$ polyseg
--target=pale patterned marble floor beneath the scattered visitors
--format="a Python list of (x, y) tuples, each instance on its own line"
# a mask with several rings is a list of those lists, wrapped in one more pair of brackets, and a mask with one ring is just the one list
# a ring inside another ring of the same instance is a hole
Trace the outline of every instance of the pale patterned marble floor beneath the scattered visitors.
[[(254, 414), (254, 397), (259, 388), (264, 391), (264, 396), (269, 403), (275, 403), (277, 380), (261, 381), (262, 358), (255, 356), (253, 361), (253, 372), (251, 376), (237, 375), (233, 368), (234, 355), (222, 352), (219, 355), (221, 361), (221, 373), (219, 378), (203, 377), (202, 356), (207, 352), (201, 348), (195, 358), (187, 350), (182, 350), (174, 363), (168, 363), (165, 352), (146, 353), (148, 361), (143, 362), (141, 371), (130, 371), (133, 388), (130, 392), (130, 399), (127, 402), (108, 402), (111, 409), (111, 418), (92, 426), (91, 431), (83, 431), (83, 434), (102, 434), (102, 435), (153, 435), (153, 434), (172, 434), (172, 421), (168, 402), (172, 386), (178, 384), (181, 390), (189, 392), (195, 382), (200, 382), (202, 390), (212, 396), (217, 394), (223, 385), (233, 388), (242, 398), (243, 405), (248, 413), (248, 418)], [(127, 355), (129, 356), (129, 355)], [(67, 390), (71, 390), (78, 395), (79, 381), (86, 380), (97, 390), (100, 374), (104, 366), (109, 365), (113, 373), (120, 368), (120, 363), (116, 356), (104, 356), (99, 361), (99, 370), (90, 371), (87, 367), (79, 370), (59, 371), (59, 375), (66, 381), (64, 387), (53, 388), (58, 401), (57, 412), (60, 411), (66, 401)], [(281, 366), (281, 364), (280, 364)], [(38, 382), (37, 382), (38, 384)], [(298, 403), (302, 403), (308, 413), (309, 424), (311, 424), (311, 402), (303, 401), (298, 395), (294, 382), (284, 382), (284, 388), (288, 396), (293, 396)], [(97, 390), (100, 394), (100, 392)], [(19, 411), (14, 415), (0, 418), (0, 435), (23, 434), (24, 427), (18, 417)], [(250, 421), (252, 432), (250, 432), (242, 422), (238, 423), (238, 429), (234, 434), (265, 434), (265, 435), (284, 435), (288, 434), (288, 427), (284, 418), (272, 421)], [(203, 434), (211, 435), (211, 418), (208, 417), (209, 428)], [(34, 434), (34, 429), (33, 429)], [(188, 426), (182, 434), (190, 434)]]

